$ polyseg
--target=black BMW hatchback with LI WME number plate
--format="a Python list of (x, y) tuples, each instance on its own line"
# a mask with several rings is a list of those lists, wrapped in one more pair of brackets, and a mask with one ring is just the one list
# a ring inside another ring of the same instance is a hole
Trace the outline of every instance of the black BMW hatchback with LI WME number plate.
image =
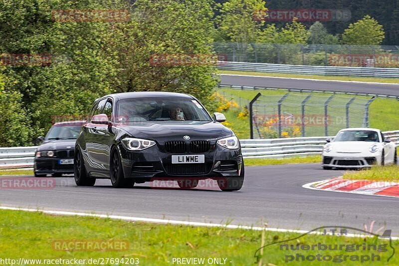
[(76, 140), (78, 186), (97, 178), (113, 187), (177, 180), (194, 188), (213, 179), (222, 191), (241, 189), (244, 164), (238, 138), (193, 96), (172, 92), (128, 92), (94, 103)]

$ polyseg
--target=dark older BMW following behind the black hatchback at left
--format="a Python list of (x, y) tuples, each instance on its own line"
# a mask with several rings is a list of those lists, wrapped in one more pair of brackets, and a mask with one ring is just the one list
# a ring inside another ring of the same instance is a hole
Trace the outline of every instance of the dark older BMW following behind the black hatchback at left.
[(85, 121), (69, 121), (55, 123), (48, 131), (34, 158), (35, 177), (62, 174), (73, 174), (73, 157), (75, 141)]

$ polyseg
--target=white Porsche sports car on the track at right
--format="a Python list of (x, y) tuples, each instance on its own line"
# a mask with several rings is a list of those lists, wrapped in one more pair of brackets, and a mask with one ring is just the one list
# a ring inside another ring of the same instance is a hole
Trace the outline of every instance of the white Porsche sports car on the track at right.
[(342, 129), (324, 145), (322, 166), (326, 170), (386, 164), (397, 164), (396, 144), (379, 129)]

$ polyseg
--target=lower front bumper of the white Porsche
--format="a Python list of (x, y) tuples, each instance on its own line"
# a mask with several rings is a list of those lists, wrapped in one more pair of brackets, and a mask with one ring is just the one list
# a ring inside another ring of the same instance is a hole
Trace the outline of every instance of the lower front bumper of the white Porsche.
[(341, 157), (324, 156), (322, 165), (324, 167), (336, 168), (369, 168), (379, 163), (378, 157)]

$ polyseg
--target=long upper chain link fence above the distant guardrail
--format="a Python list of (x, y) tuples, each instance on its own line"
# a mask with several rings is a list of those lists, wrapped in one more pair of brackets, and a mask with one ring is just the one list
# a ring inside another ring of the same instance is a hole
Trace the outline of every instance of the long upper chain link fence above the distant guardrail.
[(399, 67), (399, 46), (213, 43), (220, 61), (291, 65)]

